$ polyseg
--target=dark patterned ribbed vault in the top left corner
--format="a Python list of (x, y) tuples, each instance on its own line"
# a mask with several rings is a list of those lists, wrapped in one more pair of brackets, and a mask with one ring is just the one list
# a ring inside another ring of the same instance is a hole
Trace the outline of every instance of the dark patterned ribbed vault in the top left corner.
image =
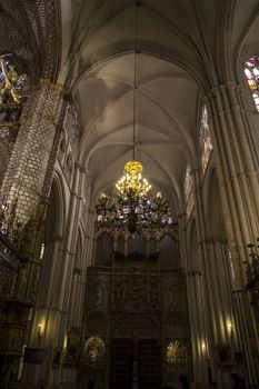
[(32, 83), (56, 80), (60, 64), (60, 4), (56, 0), (1, 0), (0, 54), (10, 53)]

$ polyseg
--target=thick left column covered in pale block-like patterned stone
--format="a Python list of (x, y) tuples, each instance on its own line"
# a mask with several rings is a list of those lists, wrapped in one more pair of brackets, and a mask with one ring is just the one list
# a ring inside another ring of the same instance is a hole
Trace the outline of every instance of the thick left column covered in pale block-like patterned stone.
[(61, 87), (41, 80), (29, 96), (3, 179), (2, 202), (16, 202), (22, 226), (34, 219), (46, 192), (44, 182), (61, 110)]

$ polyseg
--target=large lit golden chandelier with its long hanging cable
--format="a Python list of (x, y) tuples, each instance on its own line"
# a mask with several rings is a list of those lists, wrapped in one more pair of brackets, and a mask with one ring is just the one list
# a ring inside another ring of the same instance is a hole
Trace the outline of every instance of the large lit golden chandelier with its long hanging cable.
[(130, 233), (143, 229), (165, 227), (172, 222), (170, 207), (161, 192), (155, 197), (148, 196), (151, 184), (142, 178), (143, 167), (136, 160), (136, 106), (137, 106), (137, 36), (138, 8), (136, 1), (135, 14), (135, 57), (133, 57), (133, 131), (132, 160), (124, 164), (122, 178), (116, 183), (117, 198), (111, 199), (101, 193), (96, 206), (98, 222), (108, 228), (126, 228)]

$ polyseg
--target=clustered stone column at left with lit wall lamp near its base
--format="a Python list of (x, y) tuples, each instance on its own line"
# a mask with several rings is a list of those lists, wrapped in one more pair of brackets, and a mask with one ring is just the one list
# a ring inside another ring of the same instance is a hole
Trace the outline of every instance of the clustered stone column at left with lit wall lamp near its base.
[[(83, 309), (83, 287), (84, 285), (73, 285), (73, 281), (82, 280), (83, 269), (78, 269), (76, 263), (77, 241), (79, 236), (80, 219), (82, 216), (82, 194), (84, 191), (84, 169), (78, 163), (74, 164), (73, 183), (70, 192), (69, 211), (67, 215), (66, 230), (63, 231), (60, 245), (53, 250), (51, 261), (42, 267), (41, 287), (46, 286), (44, 277), (48, 281), (48, 291), (41, 293), (42, 298), (37, 301), (32, 330), (30, 333), (30, 347), (37, 343), (38, 323), (42, 323), (41, 348), (44, 349), (42, 365), (31, 369), (24, 369), (24, 382), (49, 386), (52, 380), (59, 382), (60, 375), (76, 375), (76, 365), (72, 369), (63, 368), (64, 355), (60, 360), (57, 371), (52, 370), (52, 359), (54, 349), (62, 349), (64, 337), (69, 330), (81, 326), (81, 311)], [(52, 265), (53, 263), (53, 265)], [(79, 275), (79, 270), (81, 275)], [(73, 289), (73, 286), (76, 287)], [(74, 296), (73, 293), (77, 292)], [(79, 300), (74, 300), (78, 297)], [(76, 302), (74, 302), (76, 301)], [(72, 309), (71, 303), (73, 303)], [(42, 308), (43, 307), (43, 308)], [(76, 379), (76, 378), (74, 378)]]

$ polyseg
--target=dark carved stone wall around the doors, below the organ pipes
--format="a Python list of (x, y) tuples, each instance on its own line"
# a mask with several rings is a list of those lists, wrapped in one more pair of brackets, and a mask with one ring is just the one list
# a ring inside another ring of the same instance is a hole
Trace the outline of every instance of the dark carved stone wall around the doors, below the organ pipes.
[(153, 339), (162, 350), (162, 376), (175, 382), (190, 365), (186, 277), (180, 269), (160, 268), (158, 258), (140, 257), (117, 257), (113, 266), (88, 269), (82, 343), (96, 336), (108, 345), (108, 377), (112, 339), (135, 345)]

